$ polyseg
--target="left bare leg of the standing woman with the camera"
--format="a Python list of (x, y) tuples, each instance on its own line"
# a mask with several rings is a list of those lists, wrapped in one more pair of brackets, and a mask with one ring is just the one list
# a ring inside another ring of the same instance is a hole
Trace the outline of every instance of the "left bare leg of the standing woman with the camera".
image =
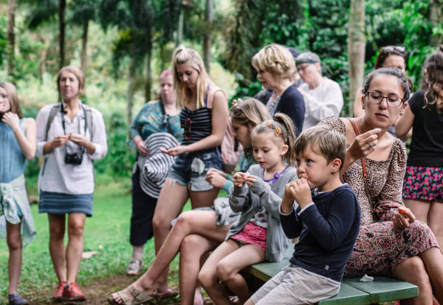
[(65, 214), (48, 214), (49, 253), (59, 282), (66, 282)]

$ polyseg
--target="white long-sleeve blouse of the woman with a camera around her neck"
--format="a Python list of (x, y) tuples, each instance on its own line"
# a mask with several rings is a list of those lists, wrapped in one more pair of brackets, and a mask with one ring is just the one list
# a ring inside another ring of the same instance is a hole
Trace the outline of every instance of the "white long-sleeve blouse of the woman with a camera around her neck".
[[(46, 143), (46, 122), (54, 104), (45, 105), (37, 114), (37, 144), (36, 156), (43, 157), (43, 164), (40, 168), (38, 186), (39, 190), (70, 195), (92, 194), (94, 192), (94, 164), (92, 160), (102, 159), (107, 153), (106, 129), (103, 116), (97, 109), (91, 108), (92, 131), (88, 128), (85, 134), (85, 114), (81, 107), (77, 111), (73, 120), (65, 115), (66, 134), (80, 134), (94, 144), (95, 151), (89, 154), (85, 148), (81, 164), (72, 165), (65, 163), (66, 151), (73, 154), (81, 148), (72, 141), (68, 141), (65, 146), (52, 149), (49, 154), (43, 154), (43, 146)], [(66, 106), (65, 103), (63, 103)], [(61, 112), (52, 120), (48, 130), (47, 141), (53, 140), (57, 136), (64, 135), (62, 127)]]

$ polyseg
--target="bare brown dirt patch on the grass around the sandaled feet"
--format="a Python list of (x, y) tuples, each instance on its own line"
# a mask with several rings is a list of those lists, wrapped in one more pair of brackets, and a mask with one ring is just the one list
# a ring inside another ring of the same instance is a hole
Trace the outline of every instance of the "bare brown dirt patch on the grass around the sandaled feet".
[[(57, 305), (68, 305), (68, 304), (77, 304), (77, 305), (104, 305), (108, 304), (106, 298), (112, 292), (123, 289), (124, 287), (129, 286), (136, 278), (119, 275), (115, 277), (110, 277), (106, 279), (98, 279), (94, 281), (94, 284), (89, 286), (81, 286), (81, 290), (86, 295), (85, 302), (52, 302), (52, 289), (54, 287), (48, 287), (44, 291), (28, 291), (27, 297), (31, 304), (57, 304)], [(180, 295), (179, 288), (172, 287), (173, 293), (169, 296), (165, 296), (162, 298), (157, 298), (152, 300), (147, 304), (180, 304)], [(204, 295), (205, 304), (213, 304), (207, 295)]]

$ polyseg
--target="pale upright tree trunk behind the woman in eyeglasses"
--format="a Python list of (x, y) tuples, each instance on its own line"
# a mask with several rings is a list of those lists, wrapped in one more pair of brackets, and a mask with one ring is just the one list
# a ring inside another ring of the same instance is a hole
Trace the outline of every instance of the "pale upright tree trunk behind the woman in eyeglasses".
[(365, 65), (365, 0), (351, 0), (348, 29), (349, 62), (349, 113), (353, 113), (353, 101), (363, 83)]

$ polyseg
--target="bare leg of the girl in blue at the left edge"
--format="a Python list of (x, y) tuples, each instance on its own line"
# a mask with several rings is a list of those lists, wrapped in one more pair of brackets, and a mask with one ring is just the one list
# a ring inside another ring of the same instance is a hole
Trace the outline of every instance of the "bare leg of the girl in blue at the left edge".
[(8, 271), (9, 288), (8, 294), (17, 293), (18, 279), (21, 270), (21, 223), (11, 224), (6, 222), (7, 243), (9, 249)]

